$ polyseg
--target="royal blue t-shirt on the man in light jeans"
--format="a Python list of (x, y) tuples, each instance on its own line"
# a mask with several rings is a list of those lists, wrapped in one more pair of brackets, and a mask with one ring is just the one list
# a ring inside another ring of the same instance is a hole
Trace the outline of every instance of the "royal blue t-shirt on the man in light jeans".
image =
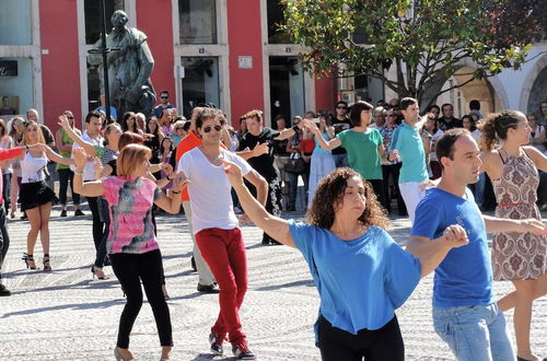
[(469, 244), (452, 248), (435, 269), (433, 306), (488, 305), (492, 303), (492, 267), (485, 221), (472, 191), (466, 188), (462, 198), (429, 189), (416, 208), (411, 234), (433, 240), (452, 224), (465, 229)]

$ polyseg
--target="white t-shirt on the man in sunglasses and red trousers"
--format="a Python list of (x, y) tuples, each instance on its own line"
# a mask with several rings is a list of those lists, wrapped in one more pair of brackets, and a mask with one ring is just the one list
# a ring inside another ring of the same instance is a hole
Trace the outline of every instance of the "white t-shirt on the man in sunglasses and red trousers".
[[(251, 165), (243, 158), (226, 150), (221, 152), (226, 161), (242, 168), (243, 175), (251, 172)], [(191, 180), (188, 185), (188, 196), (194, 234), (205, 229), (232, 230), (238, 226), (232, 203), (232, 185), (222, 165), (211, 164), (198, 147), (181, 158), (177, 172), (184, 172)]]

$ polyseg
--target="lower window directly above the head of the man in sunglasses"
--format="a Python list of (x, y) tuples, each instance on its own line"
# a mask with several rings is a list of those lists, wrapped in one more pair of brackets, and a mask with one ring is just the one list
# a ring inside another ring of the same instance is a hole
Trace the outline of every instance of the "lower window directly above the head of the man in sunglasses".
[(206, 57), (182, 57), (183, 113), (189, 119), (196, 106), (220, 107), (219, 59)]

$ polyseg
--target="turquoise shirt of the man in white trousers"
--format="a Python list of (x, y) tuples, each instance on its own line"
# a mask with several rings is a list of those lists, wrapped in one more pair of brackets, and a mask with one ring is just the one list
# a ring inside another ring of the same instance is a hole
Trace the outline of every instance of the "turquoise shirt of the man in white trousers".
[(410, 127), (406, 121), (403, 121), (393, 135), (392, 150), (397, 150), (403, 161), (399, 184), (421, 183), (429, 178), (426, 151), (418, 128)]

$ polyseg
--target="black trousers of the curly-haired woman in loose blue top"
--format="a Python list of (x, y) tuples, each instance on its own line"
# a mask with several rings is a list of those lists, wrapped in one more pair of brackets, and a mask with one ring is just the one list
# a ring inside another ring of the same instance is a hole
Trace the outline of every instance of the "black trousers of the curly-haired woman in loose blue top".
[(361, 329), (357, 335), (333, 325), (323, 316), (318, 319), (319, 349), (324, 361), (404, 361), (405, 346), (397, 316), (384, 327)]

